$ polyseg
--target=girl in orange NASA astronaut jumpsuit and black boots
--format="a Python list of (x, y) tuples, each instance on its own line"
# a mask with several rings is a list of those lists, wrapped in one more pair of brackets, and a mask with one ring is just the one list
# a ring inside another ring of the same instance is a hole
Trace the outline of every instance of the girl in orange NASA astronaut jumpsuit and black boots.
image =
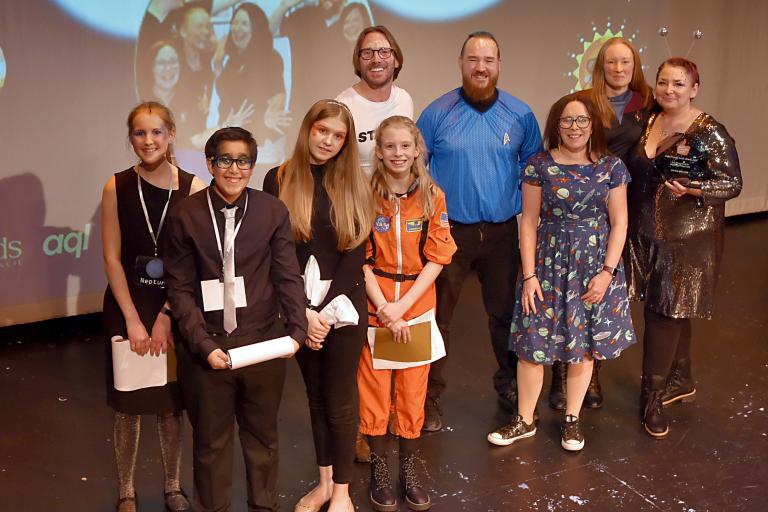
[[(451, 262), (451, 237), (443, 191), (426, 168), (426, 149), (410, 119), (393, 116), (376, 130), (372, 186), (376, 220), (364, 266), (368, 324), (386, 327), (395, 342), (411, 341), (408, 320), (432, 311), (435, 278)], [(436, 329), (435, 329), (436, 331)], [(371, 348), (363, 347), (357, 381), (360, 431), (371, 445), (370, 500), (379, 511), (397, 510), (387, 469), (387, 422), (394, 376), (394, 414), (399, 435), (400, 482), (411, 510), (431, 507), (415, 473), (424, 423), (429, 363), (403, 369), (374, 369)]]

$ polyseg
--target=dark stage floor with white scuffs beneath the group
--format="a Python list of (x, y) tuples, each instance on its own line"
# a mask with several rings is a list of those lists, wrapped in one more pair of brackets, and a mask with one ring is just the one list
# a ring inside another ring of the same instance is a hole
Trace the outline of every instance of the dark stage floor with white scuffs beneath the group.
[[(766, 254), (768, 215), (729, 221), (716, 318), (694, 324), (698, 400), (668, 408), (669, 437), (653, 440), (638, 422), (642, 350), (635, 346), (604, 366), (605, 406), (582, 415), (586, 447), (576, 454), (560, 448), (560, 414), (544, 400), (534, 438), (506, 448), (486, 442), (486, 433), (507, 416), (497, 409), (491, 385), (478, 284), (468, 282), (454, 321), (447, 426), (424, 439), (433, 509), (766, 510)], [(0, 511), (113, 510), (112, 415), (99, 322), (89, 315), (0, 329)], [(280, 416), (283, 510), (293, 509), (316, 476), (303, 385), (296, 365), (289, 368)], [(145, 417), (143, 430), (137, 492), (142, 510), (160, 511), (154, 418)], [(191, 491), (189, 437), (183, 477)], [(236, 464), (233, 510), (240, 511), (245, 491), (242, 464)], [(359, 510), (370, 510), (367, 473), (367, 465), (357, 465), (352, 487)]]

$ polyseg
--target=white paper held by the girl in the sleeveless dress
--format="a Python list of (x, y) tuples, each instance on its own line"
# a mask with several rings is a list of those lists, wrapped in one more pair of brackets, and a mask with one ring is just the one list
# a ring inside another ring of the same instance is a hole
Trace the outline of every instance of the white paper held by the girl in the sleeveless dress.
[(140, 356), (122, 336), (112, 336), (112, 381), (118, 391), (165, 386), (168, 383), (167, 355)]

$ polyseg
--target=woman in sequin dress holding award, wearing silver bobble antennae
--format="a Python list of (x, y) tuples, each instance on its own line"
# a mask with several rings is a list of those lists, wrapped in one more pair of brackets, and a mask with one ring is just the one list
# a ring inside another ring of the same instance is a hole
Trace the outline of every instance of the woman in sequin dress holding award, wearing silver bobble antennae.
[(629, 167), (640, 194), (630, 290), (645, 300), (640, 414), (664, 437), (663, 405), (692, 400), (691, 318), (711, 318), (725, 202), (741, 191), (739, 157), (723, 125), (693, 106), (699, 72), (675, 57), (656, 73), (661, 111), (648, 120)]

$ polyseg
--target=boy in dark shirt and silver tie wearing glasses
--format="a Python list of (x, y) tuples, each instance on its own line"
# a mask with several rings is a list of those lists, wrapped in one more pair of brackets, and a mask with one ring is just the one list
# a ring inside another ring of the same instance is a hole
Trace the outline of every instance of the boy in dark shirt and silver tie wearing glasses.
[[(211, 185), (168, 218), (168, 297), (182, 343), (178, 375), (193, 427), (194, 509), (231, 508), (233, 420), (248, 510), (277, 509), (277, 411), (285, 359), (228, 369), (227, 350), (307, 338), (304, 284), (285, 206), (247, 187), (256, 141), (223, 128), (205, 145)], [(279, 313), (282, 311), (282, 314)]]

